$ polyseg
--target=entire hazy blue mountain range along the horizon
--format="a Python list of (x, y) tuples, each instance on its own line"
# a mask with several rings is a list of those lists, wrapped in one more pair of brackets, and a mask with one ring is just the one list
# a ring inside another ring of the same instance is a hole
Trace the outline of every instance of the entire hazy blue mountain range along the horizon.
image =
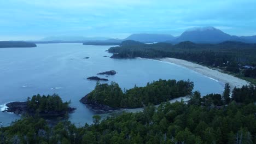
[(240, 41), (243, 43), (256, 43), (256, 35), (242, 36), (230, 35), (214, 27), (197, 27), (183, 32), (180, 36), (174, 37), (171, 34), (132, 34), (125, 39), (111, 39), (102, 37), (48, 37), (40, 41), (74, 41), (74, 42), (92, 42), (92, 43), (121, 43), (125, 40), (135, 40), (142, 43), (166, 42), (180, 43), (182, 41), (191, 41), (193, 43), (222, 43), (223, 41)]

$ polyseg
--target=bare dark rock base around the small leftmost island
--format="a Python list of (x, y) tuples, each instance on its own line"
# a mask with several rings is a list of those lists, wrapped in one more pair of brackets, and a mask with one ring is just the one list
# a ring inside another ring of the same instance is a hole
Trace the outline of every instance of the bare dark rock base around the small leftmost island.
[[(20, 101), (14, 101), (11, 103), (6, 104), (7, 109), (4, 110), (3, 112), (13, 112), (17, 115), (36, 115), (35, 111), (32, 111), (31, 109), (28, 108), (27, 106), (27, 102), (20, 102)], [(68, 107), (68, 110), (66, 111), (44, 111), (44, 112), (40, 112), (39, 115), (40, 116), (63, 116), (66, 115), (66, 113), (72, 113), (74, 112), (76, 108), (73, 107)]]

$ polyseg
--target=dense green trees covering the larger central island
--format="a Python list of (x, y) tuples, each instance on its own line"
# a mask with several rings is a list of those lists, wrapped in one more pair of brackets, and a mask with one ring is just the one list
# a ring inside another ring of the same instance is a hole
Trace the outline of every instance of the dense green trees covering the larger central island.
[(97, 83), (94, 91), (85, 96), (88, 103), (108, 105), (115, 108), (136, 108), (148, 104), (160, 104), (192, 93), (191, 81), (159, 80), (147, 83), (145, 87), (127, 89), (124, 92), (117, 83)]

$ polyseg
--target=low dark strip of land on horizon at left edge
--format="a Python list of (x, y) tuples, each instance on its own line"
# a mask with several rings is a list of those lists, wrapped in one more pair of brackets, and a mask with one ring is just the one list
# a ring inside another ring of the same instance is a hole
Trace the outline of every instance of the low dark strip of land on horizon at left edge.
[(36, 47), (34, 43), (28, 43), (25, 41), (0, 41), (0, 48), (8, 47)]

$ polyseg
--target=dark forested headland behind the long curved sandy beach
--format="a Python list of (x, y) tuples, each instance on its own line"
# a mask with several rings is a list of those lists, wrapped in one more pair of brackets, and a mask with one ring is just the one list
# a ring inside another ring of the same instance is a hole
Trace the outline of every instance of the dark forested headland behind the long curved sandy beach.
[[(238, 77), (256, 76), (256, 44), (225, 41), (219, 44), (195, 44), (184, 41), (179, 44), (143, 44), (123, 41), (120, 47), (111, 47), (112, 58), (163, 58), (172, 57), (220, 68)], [(247, 68), (251, 67), (251, 68)]]

